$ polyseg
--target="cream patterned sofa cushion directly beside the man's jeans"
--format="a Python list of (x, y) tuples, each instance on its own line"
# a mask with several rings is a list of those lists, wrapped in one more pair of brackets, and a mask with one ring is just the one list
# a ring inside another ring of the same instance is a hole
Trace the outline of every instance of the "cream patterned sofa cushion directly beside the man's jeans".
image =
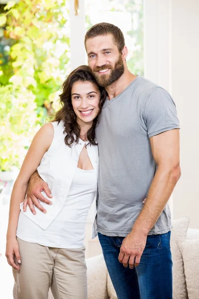
[(188, 299), (183, 257), (178, 241), (186, 238), (190, 217), (184, 216), (172, 222), (171, 252), (173, 260), (173, 299)]

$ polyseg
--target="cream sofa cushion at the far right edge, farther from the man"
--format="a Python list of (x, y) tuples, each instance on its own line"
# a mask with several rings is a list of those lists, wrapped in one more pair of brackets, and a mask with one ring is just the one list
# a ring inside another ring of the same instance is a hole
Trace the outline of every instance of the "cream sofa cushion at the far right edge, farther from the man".
[(199, 239), (179, 241), (189, 299), (199, 298)]

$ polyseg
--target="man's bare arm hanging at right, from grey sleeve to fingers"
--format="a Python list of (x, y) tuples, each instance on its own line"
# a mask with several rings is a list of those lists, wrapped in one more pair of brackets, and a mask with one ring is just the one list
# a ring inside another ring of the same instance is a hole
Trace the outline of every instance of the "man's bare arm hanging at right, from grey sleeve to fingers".
[(180, 134), (178, 129), (150, 138), (157, 171), (149, 188), (147, 201), (131, 232), (124, 238), (118, 260), (124, 267), (138, 266), (147, 235), (158, 220), (181, 176)]

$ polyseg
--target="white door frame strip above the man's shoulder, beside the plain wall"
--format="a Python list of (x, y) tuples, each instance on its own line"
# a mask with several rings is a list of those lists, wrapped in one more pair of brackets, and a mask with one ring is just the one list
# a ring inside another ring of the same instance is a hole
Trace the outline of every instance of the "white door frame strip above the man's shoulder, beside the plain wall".
[(171, 0), (144, 0), (145, 77), (171, 92)]

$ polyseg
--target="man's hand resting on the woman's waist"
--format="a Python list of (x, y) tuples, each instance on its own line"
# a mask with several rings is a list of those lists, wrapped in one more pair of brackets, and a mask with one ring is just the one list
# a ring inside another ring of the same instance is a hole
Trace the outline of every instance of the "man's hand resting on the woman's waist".
[(48, 184), (44, 182), (39, 176), (38, 172), (35, 171), (28, 182), (26, 199), (23, 202), (23, 211), (26, 211), (28, 205), (34, 215), (36, 214), (34, 206), (36, 206), (43, 213), (46, 213), (46, 209), (42, 207), (42, 205), (39, 203), (39, 200), (47, 204), (52, 204), (52, 202), (41, 194), (42, 191), (44, 191), (48, 197), (52, 198)]

